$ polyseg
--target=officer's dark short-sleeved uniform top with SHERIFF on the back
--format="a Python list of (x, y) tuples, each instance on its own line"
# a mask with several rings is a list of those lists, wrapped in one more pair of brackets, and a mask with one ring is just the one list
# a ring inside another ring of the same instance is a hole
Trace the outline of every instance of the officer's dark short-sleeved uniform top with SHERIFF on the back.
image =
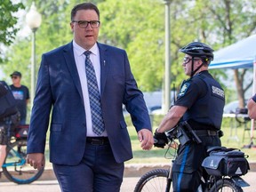
[(207, 70), (181, 84), (174, 105), (188, 108), (181, 121), (188, 121), (193, 129), (220, 130), (225, 95)]

